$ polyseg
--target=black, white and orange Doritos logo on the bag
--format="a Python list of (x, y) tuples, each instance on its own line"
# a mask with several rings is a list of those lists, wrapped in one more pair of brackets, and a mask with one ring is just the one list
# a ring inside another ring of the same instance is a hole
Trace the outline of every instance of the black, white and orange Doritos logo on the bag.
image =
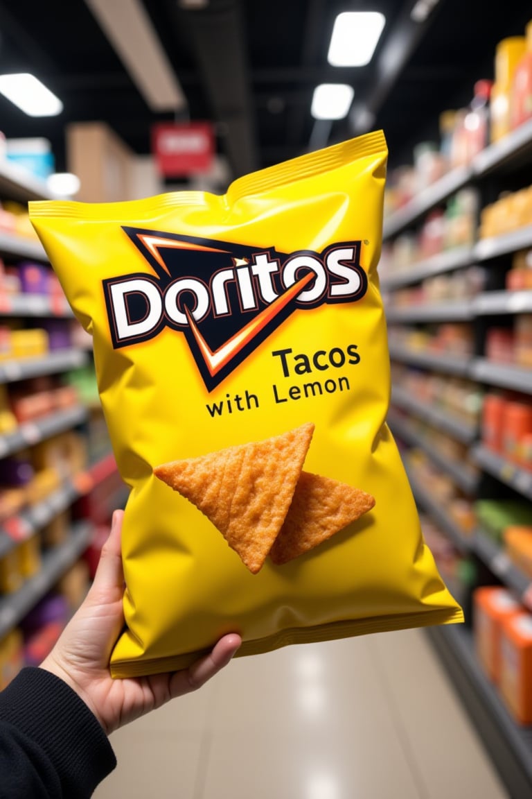
[(361, 241), (321, 253), (124, 227), (151, 273), (104, 280), (114, 348), (182, 333), (211, 392), (298, 309), (360, 300)]

